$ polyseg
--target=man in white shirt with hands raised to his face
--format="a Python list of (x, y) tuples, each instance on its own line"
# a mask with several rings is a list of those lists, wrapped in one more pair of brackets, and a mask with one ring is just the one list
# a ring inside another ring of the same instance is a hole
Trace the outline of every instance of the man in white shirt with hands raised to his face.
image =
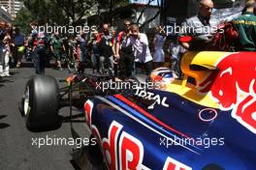
[(144, 33), (140, 33), (139, 26), (136, 24), (131, 25), (130, 37), (126, 45), (132, 44), (134, 49), (136, 71), (137, 69), (145, 68), (146, 74), (152, 71), (152, 56), (148, 47), (148, 40)]

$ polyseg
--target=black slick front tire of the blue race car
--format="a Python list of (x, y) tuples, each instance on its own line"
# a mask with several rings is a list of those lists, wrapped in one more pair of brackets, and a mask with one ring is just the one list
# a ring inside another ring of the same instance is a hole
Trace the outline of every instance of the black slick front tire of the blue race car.
[(31, 77), (22, 99), (26, 127), (31, 131), (44, 131), (60, 127), (58, 115), (58, 85), (48, 75)]

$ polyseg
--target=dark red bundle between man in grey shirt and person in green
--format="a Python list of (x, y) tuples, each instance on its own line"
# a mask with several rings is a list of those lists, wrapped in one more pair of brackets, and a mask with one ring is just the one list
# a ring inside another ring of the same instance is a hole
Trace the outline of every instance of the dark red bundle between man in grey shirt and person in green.
[(213, 48), (221, 51), (233, 51), (234, 42), (237, 42), (239, 32), (232, 21), (218, 25), (217, 32), (213, 35)]

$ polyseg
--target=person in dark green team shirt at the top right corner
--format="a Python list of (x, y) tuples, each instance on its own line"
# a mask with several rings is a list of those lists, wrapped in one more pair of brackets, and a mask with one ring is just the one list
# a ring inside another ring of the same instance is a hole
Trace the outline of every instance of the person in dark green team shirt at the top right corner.
[(238, 50), (256, 51), (256, 16), (253, 14), (256, 8), (255, 0), (248, 0), (245, 8), (245, 14), (234, 20), (240, 39)]

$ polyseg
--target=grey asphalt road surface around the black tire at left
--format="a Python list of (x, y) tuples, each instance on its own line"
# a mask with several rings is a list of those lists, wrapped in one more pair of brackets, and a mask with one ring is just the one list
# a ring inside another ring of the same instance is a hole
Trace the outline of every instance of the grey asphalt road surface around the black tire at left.
[[(70, 138), (69, 123), (47, 132), (28, 131), (24, 119), (18, 111), (18, 101), (24, 92), (26, 81), (35, 75), (33, 68), (11, 71), (12, 77), (0, 79), (0, 170), (71, 170), (72, 148), (76, 146), (36, 146), (35, 138)], [(69, 75), (68, 71), (47, 69), (46, 74), (57, 80)], [(60, 115), (68, 115), (69, 108), (60, 110)], [(82, 128), (86, 128), (82, 125)]]

